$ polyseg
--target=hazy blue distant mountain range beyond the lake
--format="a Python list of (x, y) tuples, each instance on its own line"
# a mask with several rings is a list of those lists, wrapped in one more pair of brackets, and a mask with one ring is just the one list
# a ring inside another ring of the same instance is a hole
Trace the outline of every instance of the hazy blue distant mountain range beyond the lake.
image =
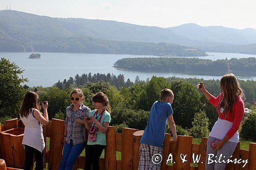
[[(132, 45), (134, 42), (137, 42), (136, 46)], [(165, 45), (162, 49), (160, 42)], [(245, 44), (241, 46), (242, 51), (236, 52), (256, 54), (255, 45), (248, 45), (250, 43), (256, 43), (256, 30), (201, 27), (195, 24), (160, 28), (111, 20), (52, 18), (13, 10), (0, 11), (0, 52), (98, 51), (163, 56), (177, 55), (175, 50), (180, 52), (182, 49), (198, 48), (197, 54), (187, 54), (186, 51), (186, 55), (198, 56), (204, 53), (199, 49), (208, 52), (235, 52), (232, 49), (237, 50), (237, 45)], [(248, 51), (247, 47), (253, 49)], [(133, 48), (136, 48), (136, 53)], [(152, 48), (150, 53), (146, 53), (148, 48)], [(179, 55), (184, 54), (182, 53)]]

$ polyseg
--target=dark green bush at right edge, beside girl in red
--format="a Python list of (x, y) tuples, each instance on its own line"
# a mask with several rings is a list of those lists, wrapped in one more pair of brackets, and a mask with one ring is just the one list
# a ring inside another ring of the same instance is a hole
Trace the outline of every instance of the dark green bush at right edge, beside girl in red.
[(251, 107), (250, 112), (245, 115), (242, 123), (241, 137), (256, 141), (256, 105)]

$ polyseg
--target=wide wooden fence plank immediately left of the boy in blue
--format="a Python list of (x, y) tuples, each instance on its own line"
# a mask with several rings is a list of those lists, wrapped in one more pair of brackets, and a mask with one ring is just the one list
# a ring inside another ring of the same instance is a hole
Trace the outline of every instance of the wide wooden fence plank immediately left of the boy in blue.
[(122, 155), (121, 155), (121, 169), (133, 168), (133, 133), (137, 129), (122, 128)]

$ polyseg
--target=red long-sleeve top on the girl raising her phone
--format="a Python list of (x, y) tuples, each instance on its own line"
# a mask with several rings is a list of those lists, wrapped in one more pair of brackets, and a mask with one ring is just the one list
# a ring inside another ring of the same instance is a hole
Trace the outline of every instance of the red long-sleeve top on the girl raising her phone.
[[(209, 103), (217, 107), (219, 106), (219, 103), (221, 102), (221, 100), (222, 100), (221, 93), (217, 98), (211, 95), (211, 99), (209, 100)], [(237, 96), (236, 102), (234, 102), (232, 106), (232, 114), (230, 115), (230, 110), (229, 110), (226, 118), (224, 117), (223, 113), (220, 112), (219, 109), (217, 110), (217, 112), (219, 113), (219, 118), (233, 123), (232, 127), (226, 134), (230, 139), (234, 135), (234, 133), (237, 132), (242, 122), (242, 119), (244, 116), (244, 101), (242, 100), (241, 96)]]

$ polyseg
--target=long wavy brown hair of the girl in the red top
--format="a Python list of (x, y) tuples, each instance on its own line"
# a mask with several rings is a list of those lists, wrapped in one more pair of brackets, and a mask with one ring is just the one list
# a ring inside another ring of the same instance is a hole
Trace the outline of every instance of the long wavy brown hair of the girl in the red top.
[(227, 112), (230, 111), (232, 114), (232, 106), (236, 102), (237, 96), (241, 96), (242, 99), (245, 99), (243, 89), (240, 87), (240, 84), (233, 74), (224, 75), (221, 78), (221, 94), (222, 102), (220, 102), (217, 109), (221, 107), (224, 108), (223, 114), (224, 117), (227, 117)]

